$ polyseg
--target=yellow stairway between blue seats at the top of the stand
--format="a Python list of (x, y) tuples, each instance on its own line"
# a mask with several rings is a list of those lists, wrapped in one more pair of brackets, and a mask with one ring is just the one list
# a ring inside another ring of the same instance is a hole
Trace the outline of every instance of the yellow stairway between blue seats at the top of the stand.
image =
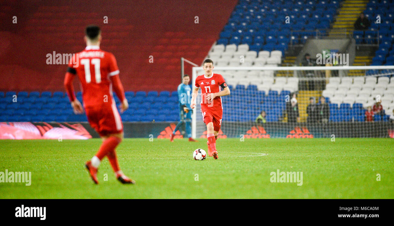
[(354, 30), (354, 22), (357, 20), (360, 13), (364, 11), (367, 3), (368, 0), (345, 0), (342, 7), (339, 9), (336, 21), (333, 23), (333, 28), (329, 31), (329, 36), (342, 37), (344, 29), (346, 29), (346, 35), (351, 34)]

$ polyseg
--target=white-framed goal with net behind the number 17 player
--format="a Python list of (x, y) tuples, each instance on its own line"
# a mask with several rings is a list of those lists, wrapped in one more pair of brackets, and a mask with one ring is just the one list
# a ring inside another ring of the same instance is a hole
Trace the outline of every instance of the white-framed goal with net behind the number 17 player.
[[(231, 91), (222, 97), (221, 138), (394, 138), (394, 66), (215, 67), (214, 73)], [(202, 74), (193, 67), (192, 85)], [(206, 137), (200, 102), (201, 90), (194, 138)]]

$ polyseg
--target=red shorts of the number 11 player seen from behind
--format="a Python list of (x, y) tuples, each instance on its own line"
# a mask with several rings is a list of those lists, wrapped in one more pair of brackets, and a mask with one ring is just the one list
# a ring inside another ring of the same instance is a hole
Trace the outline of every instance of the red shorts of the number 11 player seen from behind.
[(90, 126), (100, 136), (123, 132), (122, 120), (115, 102), (97, 107), (85, 107), (85, 111)]

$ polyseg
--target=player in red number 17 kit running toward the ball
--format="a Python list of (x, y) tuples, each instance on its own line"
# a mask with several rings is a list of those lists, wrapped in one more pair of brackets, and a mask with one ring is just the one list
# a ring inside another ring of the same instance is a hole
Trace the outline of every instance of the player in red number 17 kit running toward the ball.
[(229, 95), (230, 89), (227, 87), (221, 74), (214, 74), (212, 72), (214, 69), (214, 62), (211, 59), (204, 60), (203, 69), (205, 74), (196, 78), (190, 107), (193, 109), (196, 106), (198, 90), (201, 87), (200, 104), (203, 120), (206, 124), (208, 155), (217, 159), (216, 139), (223, 118), (221, 97)]

